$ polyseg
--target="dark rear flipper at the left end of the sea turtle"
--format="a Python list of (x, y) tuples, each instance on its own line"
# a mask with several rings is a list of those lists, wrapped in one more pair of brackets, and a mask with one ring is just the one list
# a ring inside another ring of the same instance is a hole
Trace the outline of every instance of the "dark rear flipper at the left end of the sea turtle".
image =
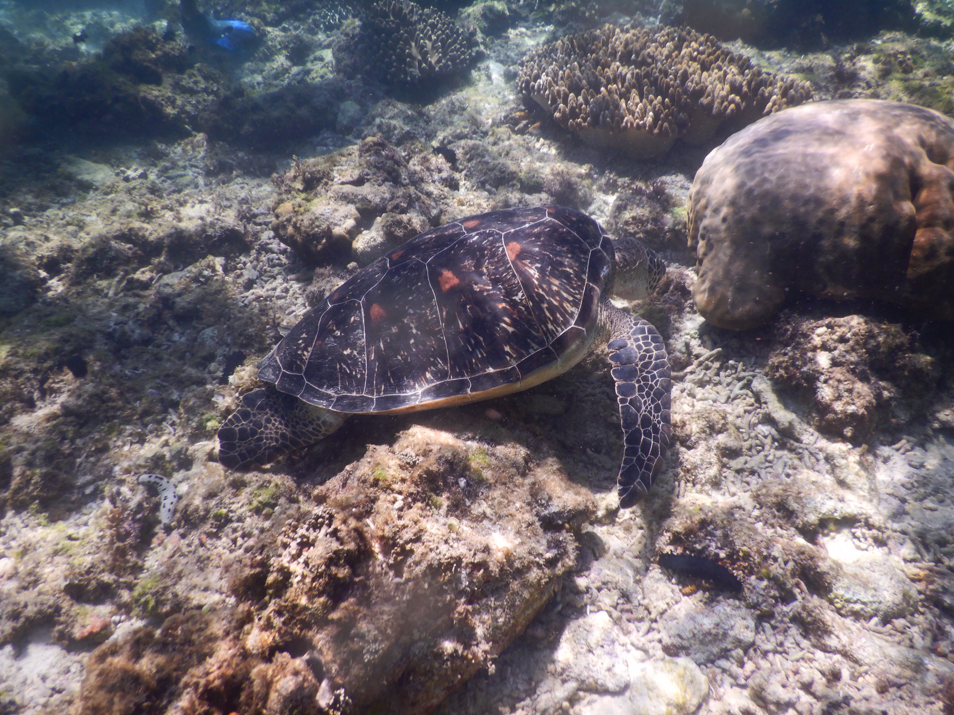
[(267, 464), (327, 437), (345, 416), (274, 390), (253, 390), (218, 428), (218, 461), (229, 469)]

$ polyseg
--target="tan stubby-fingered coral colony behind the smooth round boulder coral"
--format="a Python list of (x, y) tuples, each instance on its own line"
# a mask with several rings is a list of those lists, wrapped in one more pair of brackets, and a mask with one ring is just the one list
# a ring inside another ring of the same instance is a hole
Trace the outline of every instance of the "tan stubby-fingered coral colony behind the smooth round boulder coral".
[(705, 143), (723, 123), (741, 127), (812, 96), (808, 83), (762, 72), (711, 35), (612, 25), (530, 52), (517, 85), (587, 143), (637, 157), (677, 138)]

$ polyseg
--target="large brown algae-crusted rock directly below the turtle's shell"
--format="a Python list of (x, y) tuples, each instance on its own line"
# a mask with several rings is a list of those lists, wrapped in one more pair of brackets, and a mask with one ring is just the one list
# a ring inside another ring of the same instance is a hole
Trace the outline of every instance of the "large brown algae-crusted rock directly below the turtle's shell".
[(521, 447), (425, 427), (314, 497), (280, 537), (245, 644), (306, 642), (353, 712), (424, 711), (487, 664), (550, 598), (593, 508)]

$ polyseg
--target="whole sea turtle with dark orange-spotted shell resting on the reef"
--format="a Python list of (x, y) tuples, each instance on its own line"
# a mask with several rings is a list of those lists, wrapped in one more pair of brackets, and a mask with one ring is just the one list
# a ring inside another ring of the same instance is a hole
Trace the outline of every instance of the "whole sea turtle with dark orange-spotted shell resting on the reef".
[(259, 364), (274, 389), (246, 394), (218, 430), (229, 468), (275, 460), (351, 414), (394, 415), (496, 398), (565, 373), (606, 340), (625, 451), (622, 506), (648, 491), (670, 440), (662, 337), (616, 308), (666, 271), (633, 238), (611, 239), (559, 206), (467, 216), (351, 276)]

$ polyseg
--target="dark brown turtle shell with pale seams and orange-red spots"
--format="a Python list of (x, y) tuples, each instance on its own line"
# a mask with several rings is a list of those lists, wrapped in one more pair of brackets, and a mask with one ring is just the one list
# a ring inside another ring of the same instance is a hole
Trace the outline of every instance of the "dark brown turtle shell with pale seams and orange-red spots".
[(345, 281), (282, 338), (259, 378), (347, 413), (523, 390), (583, 358), (612, 273), (610, 237), (578, 211), (462, 218)]

